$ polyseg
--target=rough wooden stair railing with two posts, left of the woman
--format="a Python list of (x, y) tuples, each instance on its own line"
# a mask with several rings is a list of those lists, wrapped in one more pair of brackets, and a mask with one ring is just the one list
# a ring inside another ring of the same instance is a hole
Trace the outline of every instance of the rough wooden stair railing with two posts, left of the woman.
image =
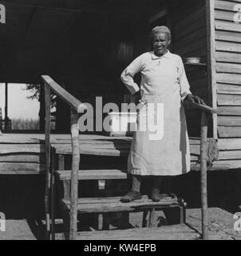
[[(82, 113), (87, 107), (81, 103), (73, 95), (69, 94), (63, 87), (59, 86), (57, 82), (54, 82), (48, 75), (42, 75), (41, 78), (44, 81), (45, 88), (45, 218), (46, 218), (46, 239), (54, 239), (54, 218), (53, 218), (53, 191), (50, 188), (53, 187), (53, 165), (50, 161), (50, 124), (51, 124), (51, 98), (50, 91), (60, 97), (64, 102), (68, 103), (71, 107), (70, 120), (71, 120), (71, 142), (73, 147), (73, 160), (72, 160), (72, 172), (71, 172), (71, 197), (70, 197), (70, 234), (69, 238), (74, 239), (77, 234), (77, 187), (78, 187), (78, 170), (80, 164), (80, 146), (79, 146), (79, 130), (77, 127), (78, 113)], [(53, 154), (52, 154), (53, 155)], [(52, 161), (53, 162), (53, 161)], [(50, 166), (51, 165), (51, 166)], [(51, 194), (51, 210), (49, 202), (49, 194)], [(50, 213), (52, 216), (50, 216)], [(51, 222), (50, 222), (51, 219)], [(52, 225), (50, 224), (52, 223)]]

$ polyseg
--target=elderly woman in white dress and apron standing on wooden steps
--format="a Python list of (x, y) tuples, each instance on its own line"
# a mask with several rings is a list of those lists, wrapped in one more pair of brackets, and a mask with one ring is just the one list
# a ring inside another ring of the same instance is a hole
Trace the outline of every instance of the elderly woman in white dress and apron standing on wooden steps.
[[(140, 184), (144, 176), (152, 176), (151, 198), (152, 201), (159, 202), (162, 198), (162, 176), (188, 173), (190, 152), (183, 102), (185, 100), (204, 103), (189, 90), (180, 56), (168, 50), (171, 43), (171, 31), (168, 27), (155, 27), (150, 39), (153, 51), (136, 58), (121, 74), (121, 80), (131, 94), (136, 94), (140, 90), (142, 107), (137, 111), (137, 127), (140, 126), (141, 118), (146, 116), (149, 103), (163, 104), (164, 136), (158, 140), (151, 140), (148, 130), (136, 130), (128, 156), (132, 190), (121, 198), (122, 202), (141, 198)], [(133, 80), (139, 72), (142, 78), (140, 88)]]

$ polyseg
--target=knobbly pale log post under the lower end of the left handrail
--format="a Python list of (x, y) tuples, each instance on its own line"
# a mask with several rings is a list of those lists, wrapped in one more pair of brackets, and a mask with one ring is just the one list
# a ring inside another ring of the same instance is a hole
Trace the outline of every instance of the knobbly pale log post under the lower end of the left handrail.
[(80, 165), (79, 130), (77, 127), (77, 121), (77, 111), (71, 109), (71, 141), (73, 148), (73, 158), (70, 196), (70, 240), (74, 240), (77, 237), (78, 170)]

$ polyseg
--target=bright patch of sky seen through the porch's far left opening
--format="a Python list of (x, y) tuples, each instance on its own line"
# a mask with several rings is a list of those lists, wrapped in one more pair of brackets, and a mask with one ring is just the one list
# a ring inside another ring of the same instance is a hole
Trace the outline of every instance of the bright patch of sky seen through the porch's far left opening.
[[(9, 118), (38, 119), (39, 102), (37, 99), (31, 100), (27, 98), (31, 96), (31, 93), (24, 90), (26, 84), (9, 84), (8, 86)], [(0, 83), (0, 108), (2, 108), (2, 118), (4, 118), (5, 84), (3, 83)]]

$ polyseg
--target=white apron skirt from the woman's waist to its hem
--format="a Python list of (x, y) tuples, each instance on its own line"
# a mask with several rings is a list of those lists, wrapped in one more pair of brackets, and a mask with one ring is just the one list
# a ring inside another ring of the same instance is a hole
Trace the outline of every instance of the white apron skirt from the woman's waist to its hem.
[[(154, 136), (153, 140), (150, 139), (150, 135), (155, 135), (152, 131), (138, 131), (141, 116), (147, 115), (148, 105), (144, 105), (137, 114), (137, 131), (128, 156), (128, 172), (142, 176), (186, 174), (190, 170), (190, 150), (180, 95), (172, 94), (165, 99), (160, 95), (148, 95), (142, 101), (164, 103), (164, 133), (163, 138), (156, 140), (158, 136)], [(148, 121), (147, 118), (142, 120)]]

